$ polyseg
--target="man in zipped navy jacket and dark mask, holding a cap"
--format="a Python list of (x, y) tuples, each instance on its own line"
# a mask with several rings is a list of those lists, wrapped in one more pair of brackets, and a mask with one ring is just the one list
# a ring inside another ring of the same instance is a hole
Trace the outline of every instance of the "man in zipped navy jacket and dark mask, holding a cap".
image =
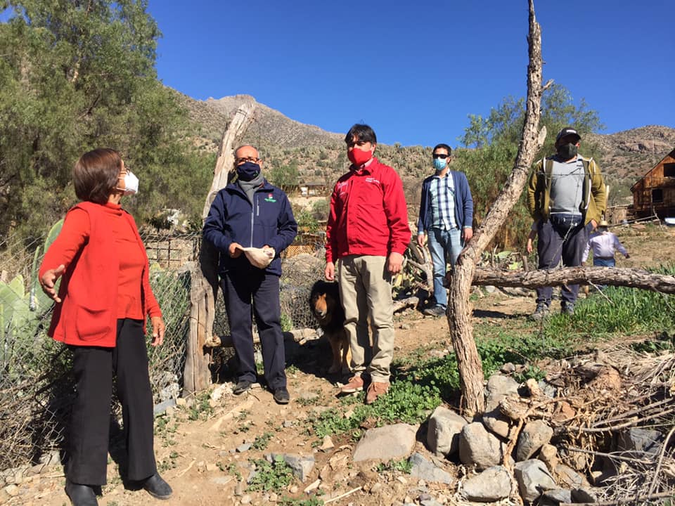
[[(239, 361), (236, 395), (256, 381), (251, 310), (262, 345), (267, 387), (279, 404), (290, 401), (286, 388), (285, 349), (279, 304), (279, 254), (293, 242), (297, 223), (288, 197), (262, 176), (262, 160), (252, 145), (234, 153), (237, 179), (216, 195), (204, 223), (204, 238), (220, 252), (219, 275), (234, 349)], [(243, 254), (259, 248), (269, 255), (260, 264)], [(252, 263), (253, 262), (253, 263)]]

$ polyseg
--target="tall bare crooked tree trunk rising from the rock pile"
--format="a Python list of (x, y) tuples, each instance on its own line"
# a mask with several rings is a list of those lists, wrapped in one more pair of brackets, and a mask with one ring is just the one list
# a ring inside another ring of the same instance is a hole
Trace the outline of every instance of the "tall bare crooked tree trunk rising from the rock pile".
[(534, 16), (534, 0), (529, 3), (529, 64), (527, 65), (527, 108), (522, 138), (518, 148), (513, 171), (496, 198), (482, 226), (478, 228), (468, 246), (464, 249), (455, 266), (450, 280), (450, 297), (447, 309), (450, 336), (457, 356), (461, 384), (461, 408), (467, 415), (482, 413), (483, 370), (480, 356), (473, 339), (469, 295), (477, 261), (494, 235), (506, 221), (506, 216), (515, 205), (525, 188), (529, 168), (534, 155), (541, 148), (546, 136), (539, 135), (541, 117), (541, 95), (546, 86), (541, 85), (541, 27)]

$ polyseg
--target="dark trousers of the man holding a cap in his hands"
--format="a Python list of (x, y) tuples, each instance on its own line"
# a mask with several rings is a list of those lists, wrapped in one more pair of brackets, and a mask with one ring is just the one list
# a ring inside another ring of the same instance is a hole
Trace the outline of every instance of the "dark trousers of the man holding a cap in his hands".
[(281, 333), (279, 277), (258, 268), (230, 271), (221, 280), (234, 351), (239, 361), (238, 380), (255, 382), (252, 316), (262, 346), (265, 380), (271, 390), (286, 386), (285, 349)]

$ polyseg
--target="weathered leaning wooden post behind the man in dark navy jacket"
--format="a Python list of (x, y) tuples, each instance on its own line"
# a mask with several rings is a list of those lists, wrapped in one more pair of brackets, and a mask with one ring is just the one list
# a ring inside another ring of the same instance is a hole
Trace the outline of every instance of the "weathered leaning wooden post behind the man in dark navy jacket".
[[(255, 103), (241, 105), (223, 135), (202, 219), (206, 219), (215, 196), (227, 184), (229, 169), (234, 165), (235, 143), (252, 122), (254, 110)], [(202, 241), (199, 265), (195, 265), (191, 270), (190, 334), (186, 346), (187, 356), (183, 373), (183, 391), (187, 395), (195, 394), (211, 386), (210, 354), (207, 353), (205, 347), (214, 346), (220, 342), (219, 338), (213, 335), (217, 294), (218, 252), (210, 242)]]

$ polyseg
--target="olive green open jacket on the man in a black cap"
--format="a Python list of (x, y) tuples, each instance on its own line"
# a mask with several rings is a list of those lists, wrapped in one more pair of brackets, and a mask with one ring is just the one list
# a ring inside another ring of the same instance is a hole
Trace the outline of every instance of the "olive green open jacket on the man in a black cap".
[[(527, 183), (527, 209), (534, 220), (548, 221), (548, 211), (551, 207), (551, 171), (553, 157), (539, 160), (534, 164), (534, 171)], [(550, 162), (549, 162), (550, 160)], [(600, 174), (600, 168), (593, 158), (581, 157), (584, 162), (584, 194), (579, 211), (584, 215), (584, 224), (592, 219), (599, 223), (607, 207), (607, 192), (605, 181)], [(544, 163), (546, 162), (546, 164)], [(544, 168), (546, 167), (546, 168)]]

